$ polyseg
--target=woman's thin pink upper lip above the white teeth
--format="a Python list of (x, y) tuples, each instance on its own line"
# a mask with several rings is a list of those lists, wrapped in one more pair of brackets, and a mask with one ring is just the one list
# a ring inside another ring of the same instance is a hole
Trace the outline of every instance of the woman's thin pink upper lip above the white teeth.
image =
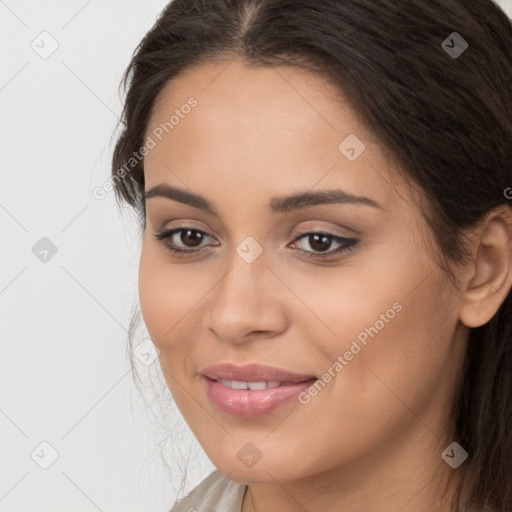
[(315, 379), (314, 375), (305, 375), (289, 372), (274, 366), (261, 364), (248, 364), (237, 366), (231, 363), (208, 366), (202, 375), (212, 380), (238, 380), (244, 382), (279, 381), (279, 382), (305, 382)]

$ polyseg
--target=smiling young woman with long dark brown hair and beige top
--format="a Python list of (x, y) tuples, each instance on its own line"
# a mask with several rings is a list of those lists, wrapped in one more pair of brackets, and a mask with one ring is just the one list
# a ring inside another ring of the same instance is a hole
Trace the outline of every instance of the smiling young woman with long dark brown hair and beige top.
[(173, 511), (512, 510), (511, 57), (491, 0), (162, 12), (112, 178), (217, 468)]

